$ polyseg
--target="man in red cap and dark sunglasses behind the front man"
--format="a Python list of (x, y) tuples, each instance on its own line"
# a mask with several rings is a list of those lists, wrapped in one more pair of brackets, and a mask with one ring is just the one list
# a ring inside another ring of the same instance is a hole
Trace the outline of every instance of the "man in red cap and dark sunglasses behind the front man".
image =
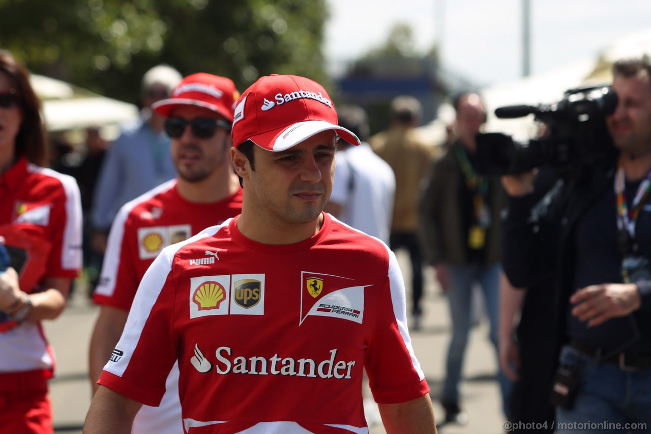
[[(242, 189), (229, 157), (233, 103), (239, 95), (228, 78), (199, 73), (184, 78), (171, 98), (153, 106), (165, 118), (176, 179), (124, 205), (111, 227), (94, 293), (94, 301), (102, 306), (90, 343), (94, 390), (107, 360), (120, 357), (113, 349), (138, 284), (158, 253), (242, 210)], [(202, 252), (196, 260), (208, 264), (218, 259)], [(183, 433), (178, 369), (171, 371), (165, 388), (159, 407), (144, 406), (137, 414), (134, 433)]]

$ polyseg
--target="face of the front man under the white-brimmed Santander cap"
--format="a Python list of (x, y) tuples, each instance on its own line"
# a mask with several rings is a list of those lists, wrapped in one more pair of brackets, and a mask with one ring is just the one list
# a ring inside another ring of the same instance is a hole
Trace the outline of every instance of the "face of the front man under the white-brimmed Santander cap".
[(320, 132), (282, 152), (254, 147), (255, 171), (245, 178), (251, 209), (278, 225), (316, 220), (332, 192), (335, 132)]

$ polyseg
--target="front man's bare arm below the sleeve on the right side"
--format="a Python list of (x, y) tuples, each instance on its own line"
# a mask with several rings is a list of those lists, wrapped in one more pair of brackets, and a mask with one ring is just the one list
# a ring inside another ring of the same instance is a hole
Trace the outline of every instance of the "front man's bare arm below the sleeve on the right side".
[(429, 394), (399, 404), (378, 404), (387, 434), (436, 433), (434, 409)]

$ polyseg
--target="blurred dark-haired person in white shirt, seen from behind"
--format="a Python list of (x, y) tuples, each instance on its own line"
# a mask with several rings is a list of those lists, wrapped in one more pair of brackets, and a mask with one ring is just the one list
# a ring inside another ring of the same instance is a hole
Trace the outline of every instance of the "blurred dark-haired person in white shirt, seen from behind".
[(359, 137), (352, 146), (338, 141), (337, 170), (326, 212), (389, 244), (396, 181), (391, 166), (368, 145), (368, 119), (359, 106), (337, 108), (339, 125)]

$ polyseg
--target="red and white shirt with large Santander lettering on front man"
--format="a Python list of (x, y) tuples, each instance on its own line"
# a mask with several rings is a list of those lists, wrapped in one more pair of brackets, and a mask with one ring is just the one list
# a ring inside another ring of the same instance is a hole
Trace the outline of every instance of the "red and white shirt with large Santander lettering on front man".
[(429, 391), (409, 339), (395, 255), (324, 214), (296, 244), (244, 237), (232, 219), (163, 250), (100, 377), (158, 405), (178, 359), (191, 433), (367, 433), (379, 403)]

